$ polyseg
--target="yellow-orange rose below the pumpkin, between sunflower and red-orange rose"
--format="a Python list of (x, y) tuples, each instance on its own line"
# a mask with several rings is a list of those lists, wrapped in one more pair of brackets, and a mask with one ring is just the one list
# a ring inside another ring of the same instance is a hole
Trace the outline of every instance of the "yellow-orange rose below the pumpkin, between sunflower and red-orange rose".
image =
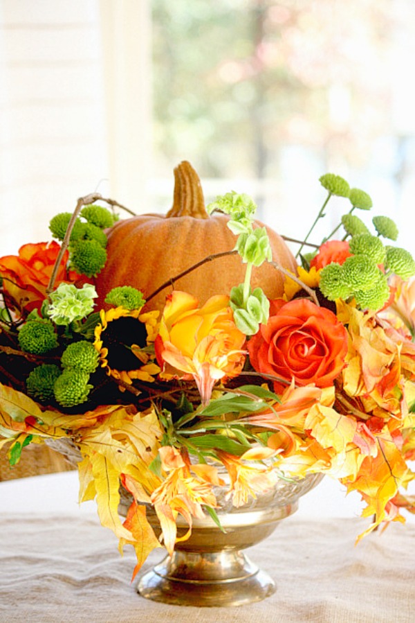
[(156, 356), (167, 378), (194, 378), (206, 404), (217, 380), (241, 371), (245, 339), (234, 324), (229, 297), (211, 297), (199, 308), (192, 295), (175, 290), (160, 321)]

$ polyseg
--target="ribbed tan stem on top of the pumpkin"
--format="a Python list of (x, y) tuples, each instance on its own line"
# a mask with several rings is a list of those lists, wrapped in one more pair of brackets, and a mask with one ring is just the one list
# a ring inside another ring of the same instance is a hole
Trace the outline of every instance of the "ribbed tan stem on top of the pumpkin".
[(193, 216), (193, 218), (209, 218), (205, 209), (205, 200), (199, 175), (187, 160), (183, 160), (174, 169), (173, 206), (166, 217)]

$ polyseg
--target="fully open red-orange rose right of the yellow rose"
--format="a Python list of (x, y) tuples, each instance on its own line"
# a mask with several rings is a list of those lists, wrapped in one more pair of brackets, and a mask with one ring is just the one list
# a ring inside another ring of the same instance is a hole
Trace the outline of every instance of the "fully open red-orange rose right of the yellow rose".
[[(297, 385), (329, 387), (344, 368), (347, 331), (335, 314), (307, 299), (294, 299), (272, 315), (248, 342), (255, 370)], [(285, 387), (275, 383), (275, 391)]]

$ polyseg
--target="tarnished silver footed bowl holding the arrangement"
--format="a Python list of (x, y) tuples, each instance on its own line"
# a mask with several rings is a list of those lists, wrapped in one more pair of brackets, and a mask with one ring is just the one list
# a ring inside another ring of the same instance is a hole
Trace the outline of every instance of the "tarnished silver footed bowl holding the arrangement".
[[(279, 479), (273, 489), (243, 507), (232, 507), (228, 489), (216, 487), (216, 509), (222, 530), (210, 516), (194, 519), (192, 535), (176, 543), (172, 556), (145, 573), (138, 593), (147, 599), (180, 606), (241, 606), (272, 595), (275, 582), (242, 552), (270, 536), (280, 520), (292, 515), (299, 498), (310, 491), (321, 474), (301, 480)], [(154, 510), (147, 511), (156, 534), (160, 525)], [(179, 516), (178, 536), (187, 532)]]

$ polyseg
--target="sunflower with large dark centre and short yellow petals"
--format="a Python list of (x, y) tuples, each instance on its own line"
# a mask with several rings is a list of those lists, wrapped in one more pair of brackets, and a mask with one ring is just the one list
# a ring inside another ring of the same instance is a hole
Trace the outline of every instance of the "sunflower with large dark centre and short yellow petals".
[(124, 307), (101, 310), (93, 345), (100, 353), (101, 366), (123, 383), (133, 379), (151, 383), (160, 368), (151, 361), (147, 346), (156, 337), (158, 311), (140, 313)]

